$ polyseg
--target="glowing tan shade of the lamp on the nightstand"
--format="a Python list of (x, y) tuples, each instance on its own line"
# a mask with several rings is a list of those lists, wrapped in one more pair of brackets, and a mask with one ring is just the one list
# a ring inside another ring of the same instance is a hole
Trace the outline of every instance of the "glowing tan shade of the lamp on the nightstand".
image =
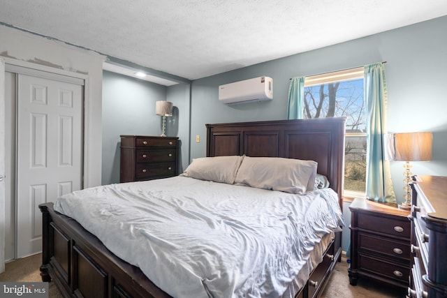
[(385, 158), (388, 161), (431, 161), (432, 133), (388, 133)]

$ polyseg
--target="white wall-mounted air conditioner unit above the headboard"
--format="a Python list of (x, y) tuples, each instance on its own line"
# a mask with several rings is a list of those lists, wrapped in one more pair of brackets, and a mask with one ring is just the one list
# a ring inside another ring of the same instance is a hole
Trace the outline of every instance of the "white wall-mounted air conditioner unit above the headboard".
[(219, 101), (226, 105), (272, 99), (273, 79), (271, 77), (255, 77), (219, 86)]

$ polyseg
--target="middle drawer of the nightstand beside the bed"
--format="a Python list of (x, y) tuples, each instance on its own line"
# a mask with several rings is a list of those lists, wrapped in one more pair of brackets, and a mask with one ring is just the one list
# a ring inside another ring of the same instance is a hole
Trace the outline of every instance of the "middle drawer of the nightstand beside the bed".
[(372, 234), (358, 234), (358, 249), (383, 253), (393, 258), (410, 260), (410, 244), (408, 242), (395, 241), (384, 237), (376, 237)]

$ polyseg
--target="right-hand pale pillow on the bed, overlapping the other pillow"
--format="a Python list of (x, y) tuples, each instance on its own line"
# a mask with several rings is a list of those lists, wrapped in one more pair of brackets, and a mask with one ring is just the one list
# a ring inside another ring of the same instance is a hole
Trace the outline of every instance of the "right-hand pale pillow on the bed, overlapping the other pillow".
[(314, 191), (317, 165), (293, 158), (245, 156), (235, 184), (286, 193)]

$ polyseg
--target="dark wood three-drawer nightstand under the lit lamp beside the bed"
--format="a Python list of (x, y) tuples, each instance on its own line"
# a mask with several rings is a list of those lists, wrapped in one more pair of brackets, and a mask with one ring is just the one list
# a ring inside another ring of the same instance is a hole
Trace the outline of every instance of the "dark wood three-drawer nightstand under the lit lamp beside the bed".
[(409, 211), (357, 198), (351, 210), (349, 283), (372, 278), (406, 289), (410, 274)]

